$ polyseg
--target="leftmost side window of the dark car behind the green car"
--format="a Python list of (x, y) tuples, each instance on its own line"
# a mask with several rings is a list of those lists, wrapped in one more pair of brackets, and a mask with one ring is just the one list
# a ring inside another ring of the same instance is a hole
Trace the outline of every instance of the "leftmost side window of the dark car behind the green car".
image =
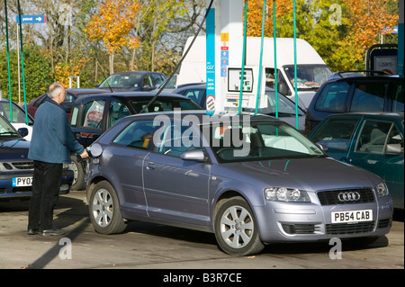
[(318, 111), (345, 112), (347, 90), (349, 87), (350, 85), (347, 82), (325, 85), (315, 104), (315, 109)]

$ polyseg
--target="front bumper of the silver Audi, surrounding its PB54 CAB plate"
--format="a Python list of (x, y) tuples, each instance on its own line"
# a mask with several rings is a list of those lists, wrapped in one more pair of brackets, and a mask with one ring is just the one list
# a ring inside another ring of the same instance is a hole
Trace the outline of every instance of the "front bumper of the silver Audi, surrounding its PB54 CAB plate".
[[(370, 220), (333, 223), (334, 211), (372, 211)], [(313, 202), (266, 202), (255, 207), (259, 236), (263, 242), (305, 242), (330, 238), (379, 237), (392, 228), (392, 199), (377, 202), (319, 205)]]

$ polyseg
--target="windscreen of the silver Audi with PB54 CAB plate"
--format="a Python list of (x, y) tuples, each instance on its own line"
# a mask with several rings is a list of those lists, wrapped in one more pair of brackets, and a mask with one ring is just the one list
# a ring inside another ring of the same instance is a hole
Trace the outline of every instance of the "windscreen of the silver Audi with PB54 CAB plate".
[(211, 149), (221, 163), (325, 157), (311, 140), (279, 121), (212, 123), (202, 126), (202, 134), (210, 137)]

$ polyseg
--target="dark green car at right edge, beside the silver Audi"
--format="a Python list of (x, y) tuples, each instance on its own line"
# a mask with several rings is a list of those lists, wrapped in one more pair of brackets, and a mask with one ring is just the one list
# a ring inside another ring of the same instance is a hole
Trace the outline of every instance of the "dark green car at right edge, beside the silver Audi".
[(403, 112), (333, 114), (310, 132), (330, 157), (383, 178), (393, 206), (403, 210)]

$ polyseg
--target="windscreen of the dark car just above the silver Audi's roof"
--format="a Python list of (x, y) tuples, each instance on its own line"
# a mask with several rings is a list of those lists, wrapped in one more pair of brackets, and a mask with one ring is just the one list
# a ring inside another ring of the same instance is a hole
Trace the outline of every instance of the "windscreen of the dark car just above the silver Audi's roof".
[[(130, 105), (136, 113), (141, 112), (149, 103), (150, 99), (132, 100)], [(175, 109), (180, 110), (201, 110), (202, 108), (188, 99), (176, 99), (171, 97), (157, 97), (148, 105), (144, 112), (170, 112)]]

